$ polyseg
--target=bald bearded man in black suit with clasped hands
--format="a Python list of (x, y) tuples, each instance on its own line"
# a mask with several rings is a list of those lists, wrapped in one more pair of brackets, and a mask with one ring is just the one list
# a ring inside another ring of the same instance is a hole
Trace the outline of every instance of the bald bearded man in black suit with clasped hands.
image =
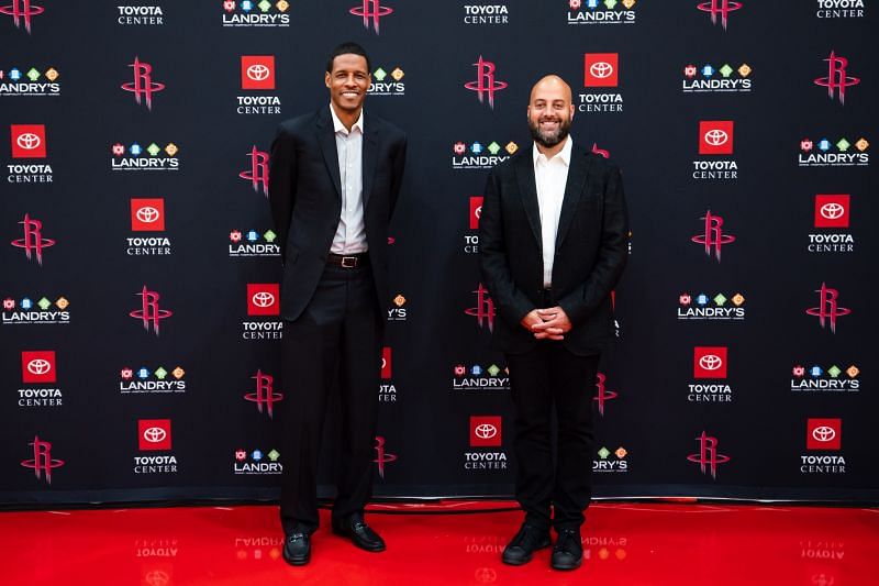
[(482, 278), (500, 317), (494, 342), (510, 368), (516, 499), (525, 511), (503, 562), (524, 564), (549, 546), (552, 524), (552, 565), (574, 570), (591, 498), (596, 374), (612, 338), (610, 294), (625, 265), (628, 220), (619, 167), (568, 135), (570, 87), (541, 79), (527, 115), (534, 146), (491, 170), (479, 219)]

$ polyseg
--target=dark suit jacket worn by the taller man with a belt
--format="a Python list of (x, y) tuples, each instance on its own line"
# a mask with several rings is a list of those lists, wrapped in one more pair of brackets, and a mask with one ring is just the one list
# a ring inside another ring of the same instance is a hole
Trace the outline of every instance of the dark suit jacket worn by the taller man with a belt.
[[(364, 112), (364, 222), (380, 307), (389, 297), (388, 223), (400, 194), (405, 148), (400, 129)], [(314, 295), (342, 213), (329, 104), (278, 126), (271, 144), (268, 191), (285, 267), (281, 316), (294, 320)]]

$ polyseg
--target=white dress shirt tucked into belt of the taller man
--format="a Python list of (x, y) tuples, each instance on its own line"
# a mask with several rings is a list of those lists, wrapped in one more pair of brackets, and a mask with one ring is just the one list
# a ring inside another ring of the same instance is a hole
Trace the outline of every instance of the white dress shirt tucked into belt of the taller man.
[(360, 118), (351, 131), (338, 120), (332, 103), (330, 113), (336, 134), (338, 176), (342, 180), (342, 214), (330, 252), (359, 254), (369, 248), (364, 223), (364, 111), (360, 110)]

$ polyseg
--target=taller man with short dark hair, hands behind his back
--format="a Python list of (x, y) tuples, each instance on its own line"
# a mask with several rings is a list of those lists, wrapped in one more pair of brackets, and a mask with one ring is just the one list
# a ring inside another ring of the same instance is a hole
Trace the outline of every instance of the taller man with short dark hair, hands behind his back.
[(385, 550), (364, 522), (388, 301), (388, 223), (400, 192), (405, 135), (364, 113), (369, 58), (336, 47), (324, 81), (330, 104), (288, 120), (271, 145), (269, 200), (281, 247), (285, 438), (283, 557), (307, 564), (318, 529), (316, 472), (327, 396), (341, 389), (342, 450), (333, 531)]

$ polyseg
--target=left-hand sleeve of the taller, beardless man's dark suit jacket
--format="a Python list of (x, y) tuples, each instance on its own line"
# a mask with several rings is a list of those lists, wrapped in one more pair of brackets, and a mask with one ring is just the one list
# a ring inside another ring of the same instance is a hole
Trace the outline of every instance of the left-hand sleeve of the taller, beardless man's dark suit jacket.
[(290, 233), (290, 218), (296, 203), (296, 141), (281, 125), (271, 143), (269, 157), (268, 200), (271, 219), (278, 233), (281, 247), (281, 264), (287, 254), (287, 239)]

